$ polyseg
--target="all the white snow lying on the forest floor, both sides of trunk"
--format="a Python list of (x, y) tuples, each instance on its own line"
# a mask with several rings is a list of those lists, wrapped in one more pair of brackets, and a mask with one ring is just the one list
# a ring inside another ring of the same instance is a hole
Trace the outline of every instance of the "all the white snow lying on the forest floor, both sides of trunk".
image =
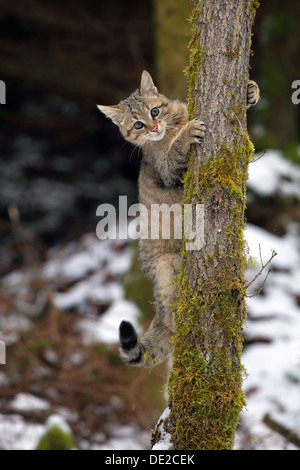
[[(253, 193), (263, 197), (279, 194), (300, 201), (299, 183), (300, 167), (285, 161), (280, 152), (268, 151), (250, 165), (248, 187), (252, 198)], [(269, 266), (249, 289), (247, 346), (243, 354), (248, 374), (244, 383), (247, 408), (241, 415), (236, 449), (296, 449), (263, 422), (267, 414), (300, 435), (299, 227), (299, 223), (287, 220), (286, 235), (278, 237), (248, 224), (245, 233), (249, 254), (256, 261), (246, 273), (248, 282), (260, 270), (260, 256), (266, 263), (272, 250), (277, 255), (272, 260), (272, 272), (263, 292), (251, 297), (262, 285)], [(59, 308), (82, 315), (78, 324), (82, 341), (117, 343), (118, 326), (124, 315), (138, 327), (140, 312), (135, 304), (124, 299), (121, 285), (131, 259), (130, 244), (124, 245), (118, 240), (100, 242), (94, 234), (83, 237), (80, 244), (72, 242), (50, 250), (42, 278), (51, 282), (53, 299)], [(26, 282), (28, 273), (18, 272), (7, 276), (3, 285), (10, 291), (15, 290), (17, 295), (22, 289), (26, 291)], [(26, 299), (22, 302), (26, 304)], [(103, 308), (104, 313), (95, 315), (99, 308)], [(1, 330), (4, 326), (2, 320)], [(22, 328), (32, 328), (31, 320), (25, 318)], [(10, 325), (8, 330), (12, 329)], [(17, 337), (15, 328), (11, 341), (16, 341)], [(5, 376), (1, 377), (0, 386), (1, 380), (3, 383), (6, 380)], [(47, 402), (18, 394), (10, 403), (12, 414), (0, 414), (0, 448), (35, 448), (45, 426), (26, 423), (17, 414), (24, 406), (41, 409), (47, 407)], [(82, 446), (132, 450), (147, 448), (148, 443), (149, 433), (128, 423), (112, 430), (108, 441), (99, 436), (97, 444), (87, 441)], [(168, 447), (167, 436), (162, 445)]]

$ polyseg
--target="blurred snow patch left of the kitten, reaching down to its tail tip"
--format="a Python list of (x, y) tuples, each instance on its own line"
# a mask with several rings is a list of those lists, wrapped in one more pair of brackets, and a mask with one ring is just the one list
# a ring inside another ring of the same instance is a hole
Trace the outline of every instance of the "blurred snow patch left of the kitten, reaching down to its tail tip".
[[(119, 249), (117, 240), (100, 241), (95, 235), (85, 236), (83, 247), (83, 252), (71, 255), (68, 252), (63, 255), (60, 253), (59, 260), (54, 259), (47, 263), (45, 277), (52, 282), (57, 278), (63, 282), (77, 281), (67, 292), (54, 293), (54, 302), (62, 310), (77, 307), (84, 313), (89, 302), (110, 305), (97, 319), (83, 318), (78, 323), (78, 328), (85, 343), (116, 344), (119, 341), (119, 325), (122, 320), (127, 319), (140, 331), (140, 311), (134, 303), (123, 298), (120, 283), (120, 277), (131, 265), (131, 249)], [(65, 255), (67, 257), (62, 264), (61, 256)]]

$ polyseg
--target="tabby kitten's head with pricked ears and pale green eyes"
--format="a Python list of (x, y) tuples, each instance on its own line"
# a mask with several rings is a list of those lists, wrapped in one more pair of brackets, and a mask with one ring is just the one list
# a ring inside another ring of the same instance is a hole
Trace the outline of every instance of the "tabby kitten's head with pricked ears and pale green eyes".
[(123, 137), (142, 147), (164, 138), (167, 127), (174, 127), (171, 101), (158, 93), (151, 75), (142, 73), (138, 90), (116, 106), (98, 105), (120, 129)]

